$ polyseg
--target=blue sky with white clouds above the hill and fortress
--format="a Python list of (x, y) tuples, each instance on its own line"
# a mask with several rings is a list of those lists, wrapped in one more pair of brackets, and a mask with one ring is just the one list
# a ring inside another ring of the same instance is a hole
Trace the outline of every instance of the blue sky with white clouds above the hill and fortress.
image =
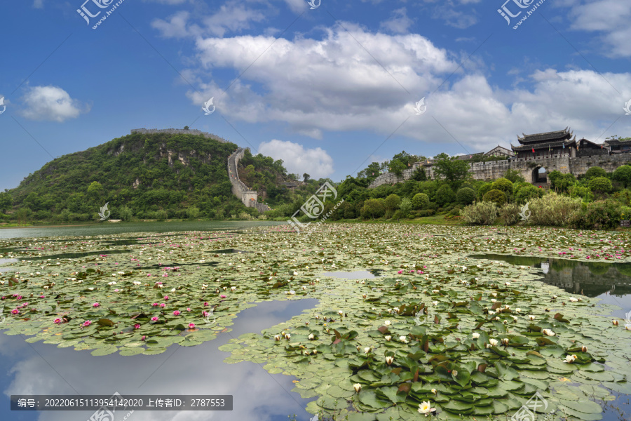
[[(334, 181), (403, 149), (631, 136), (629, 2), (545, 0), (513, 29), (537, 1), (124, 0), (93, 29), (114, 4), (0, 6), (0, 189), (142, 127), (210, 131)], [(90, 25), (82, 5), (101, 12)]]

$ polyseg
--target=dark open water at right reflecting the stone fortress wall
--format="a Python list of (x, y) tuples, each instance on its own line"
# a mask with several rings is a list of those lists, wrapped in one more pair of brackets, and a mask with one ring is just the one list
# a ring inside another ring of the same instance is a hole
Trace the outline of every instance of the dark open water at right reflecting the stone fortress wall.
[(514, 255), (470, 255), (470, 258), (500, 260), (511, 265), (541, 269), (541, 281), (571, 294), (600, 298), (604, 304), (621, 307), (613, 316), (625, 319), (631, 311), (631, 263), (579, 262), (569, 259)]

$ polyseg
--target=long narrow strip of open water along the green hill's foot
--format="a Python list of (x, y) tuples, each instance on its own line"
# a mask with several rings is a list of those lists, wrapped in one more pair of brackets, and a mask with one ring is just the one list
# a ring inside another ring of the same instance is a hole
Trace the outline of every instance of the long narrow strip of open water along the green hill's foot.
[[(0, 239), (34, 238), (41, 236), (97, 236), (127, 232), (179, 232), (247, 229), (274, 227), (287, 222), (274, 221), (182, 221), (182, 222), (101, 222), (90, 225), (67, 225), (65, 227), (24, 227), (0, 229)], [(68, 241), (68, 240), (64, 240)]]

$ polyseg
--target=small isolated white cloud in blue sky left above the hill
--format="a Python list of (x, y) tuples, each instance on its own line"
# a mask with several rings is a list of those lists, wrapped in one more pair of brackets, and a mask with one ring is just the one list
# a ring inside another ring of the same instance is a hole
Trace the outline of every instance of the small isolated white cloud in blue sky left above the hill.
[(76, 119), (90, 107), (70, 98), (69, 93), (57, 86), (33, 86), (22, 100), (26, 108), (21, 114), (30, 120), (58, 121)]

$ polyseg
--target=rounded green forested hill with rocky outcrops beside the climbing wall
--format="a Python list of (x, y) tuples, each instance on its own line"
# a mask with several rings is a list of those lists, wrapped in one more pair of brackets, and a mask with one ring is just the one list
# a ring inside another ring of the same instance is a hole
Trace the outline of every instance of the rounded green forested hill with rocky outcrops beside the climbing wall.
[[(203, 135), (133, 133), (46, 163), (9, 191), (13, 206), (0, 210), (13, 210), (11, 219), (59, 222), (98, 220), (106, 202), (111, 218), (123, 220), (258, 215), (231, 192), (226, 163), (235, 149)], [(276, 189), (290, 179), (282, 161), (245, 158), (264, 175), (259, 184)]]

